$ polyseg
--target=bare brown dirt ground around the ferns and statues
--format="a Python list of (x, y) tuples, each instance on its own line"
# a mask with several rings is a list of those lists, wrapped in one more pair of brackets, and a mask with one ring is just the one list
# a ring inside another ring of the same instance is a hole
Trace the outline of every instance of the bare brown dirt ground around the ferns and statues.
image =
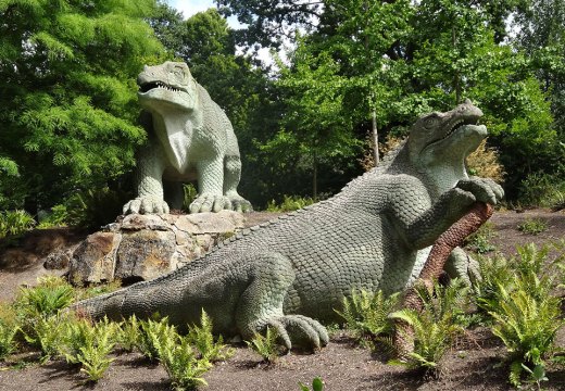
[[(253, 213), (248, 225), (272, 218), (273, 214)], [(548, 230), (537, 236), (520, 232), (517, 226), (528, 218), (539, 218), (547, 223)], [(505, 254), (514, 253), (517, 244), (542, 243), (565, 238), (565, 212), (542, 210), (495, 212), (491, 223), (497, 232), (491, 239), (497, 249)], [(48, 272), (42, 267), (45, 256), (58, 247), (72, 247), (80, 235), (65, 230), (34, 234), (30, 243), (20, 251), (18, 267), (2, 266), (0, 254), (0, 301), (10, 301), (20, 285), (33, 285), (37, 276)], [(558, 336), (558, 344), (565, 346), (565, 330)], [(330, 343), (315, 354), (292, 352), (280, 358), (276, 365), (261, 363), (252, 351), (236, 345), (236, 354), (229, 361), (219, 363), (204, 378), (209, 382), (203, 390), (299, 390), (298, 382), (310, 383), (321, 376), (326, 390), (511, 390), (507, 373), (500, 367), (504, 349), (497, 338), (485, 328), (467, 333), (443, 361), (443, 371), (439, 380), (424, 380), (419, 374), (403, 367), (386, 364), (386, 358), (356, 348), (344, 333), (332, 336)], [(565, 369), (550, 368), (550, 381), (543, 383), (547, 390), (565, 390)], [(0, 391), (38, 390), (62, 391), (75, 389), (92, 390), (168, 390), (167, 375), (161, 366), (148, 365), (139, 354), (115, 356), (115, 361), (104, 379), (92, 387), (80, 386), (76, 369), (64, 362), (50, 362), (43, 366), (30, 365), (14, 369), (9, 364), (0, 364)]]

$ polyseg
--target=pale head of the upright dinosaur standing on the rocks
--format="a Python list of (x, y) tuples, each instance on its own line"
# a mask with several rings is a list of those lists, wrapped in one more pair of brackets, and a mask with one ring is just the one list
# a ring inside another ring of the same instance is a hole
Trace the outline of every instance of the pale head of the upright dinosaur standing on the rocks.
[(149, 111), (194, 108), (196, 81), (185, 63), (167, 61), (161, 65), (146, 65), (137, 84), (139, 103)]

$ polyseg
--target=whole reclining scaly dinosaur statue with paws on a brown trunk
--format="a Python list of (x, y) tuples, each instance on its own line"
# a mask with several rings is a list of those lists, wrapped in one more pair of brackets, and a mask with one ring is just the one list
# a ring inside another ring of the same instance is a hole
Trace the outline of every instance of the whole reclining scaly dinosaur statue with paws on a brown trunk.
[[(487, 135), (473, 125), (481, 114), (467, 101), (423, 116), (402, 147), (334, 198), (247, 229), (168, 275), (77, 307), (95, 318), (159, 312), (176, 325), (198, 321), (204, 308), (223, 335), (249, 339), (269, 326), (289, 349), (297, 341), (324, 345), (328, 336), (318, 320), (336, 319), (334, 308), (352, 289), (404, 290), (429, 247), (472, 204), (503, 197), (492, 180), (465, 173), (464, 159)], [(462, 277), (473, 275), (473, 262), (459, 248), (448, 263)]]

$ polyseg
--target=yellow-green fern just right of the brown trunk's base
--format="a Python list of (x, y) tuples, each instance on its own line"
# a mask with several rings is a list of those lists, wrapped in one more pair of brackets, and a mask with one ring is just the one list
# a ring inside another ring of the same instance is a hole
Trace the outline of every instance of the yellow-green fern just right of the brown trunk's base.
[(468, 305), (468, 288), (462, 281), (453, 280), (449, 287), (435, 283), (434, 292), (418, 290), (424, 310), (401, 310), (392, 313), (392, 319), (405, 321), (414, 330), (414, 351), (406, 362), (393, 361), (409, 368), (423, 368), (432, 376), (441, 373), (441, 358), (451, 348), (454, 339), (464, 331), (462, 314)]

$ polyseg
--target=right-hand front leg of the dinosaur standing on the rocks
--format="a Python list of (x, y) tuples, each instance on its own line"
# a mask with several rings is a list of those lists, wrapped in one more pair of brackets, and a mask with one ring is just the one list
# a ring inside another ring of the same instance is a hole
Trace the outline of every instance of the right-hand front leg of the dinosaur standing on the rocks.
[(202, 160), (198, 162), (197, 171), (198, 197), (190, 204), (190, 213), (231, 209), (229, 199), (223, 194), (224, 160), (217, 155)]

